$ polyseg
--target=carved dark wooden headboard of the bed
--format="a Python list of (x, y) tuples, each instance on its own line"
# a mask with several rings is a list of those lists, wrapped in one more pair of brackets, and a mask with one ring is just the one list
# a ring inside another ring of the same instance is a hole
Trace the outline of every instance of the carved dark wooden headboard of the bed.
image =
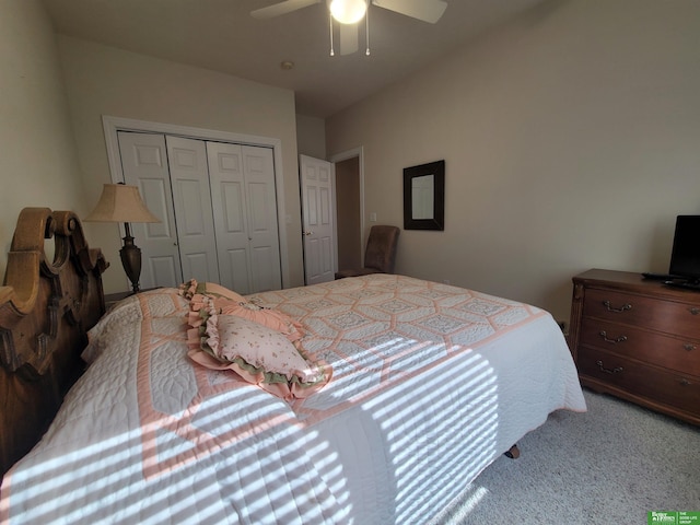
[(74, 213), (20, 213), (0, 288), (1, 475), (38, 442), (80, 377), (86, 331), (105, 312), (107, 267), (100, 249), (89, 248)]

